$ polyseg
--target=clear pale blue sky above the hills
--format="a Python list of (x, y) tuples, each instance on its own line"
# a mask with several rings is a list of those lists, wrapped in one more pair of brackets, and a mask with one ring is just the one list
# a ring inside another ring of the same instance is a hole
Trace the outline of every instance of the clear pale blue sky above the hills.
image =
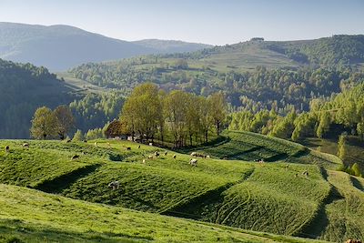
[(0, 0), (0, 22), (226, 45), (364, 34), (364, 0)]

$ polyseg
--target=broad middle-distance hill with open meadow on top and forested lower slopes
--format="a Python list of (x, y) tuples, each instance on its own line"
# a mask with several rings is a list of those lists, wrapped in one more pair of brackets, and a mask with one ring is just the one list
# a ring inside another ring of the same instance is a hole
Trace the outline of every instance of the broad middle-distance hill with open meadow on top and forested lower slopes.
[(164, 89), (208, 96), (224, 91), (228, 103), (253, 111), (294, 107), (339, 93), (359, 78), (364, 62), (364, 35), (334, 35), (292, 42), (248, 41), (194, 53), (138, 56), (116, 62), (77, 66), (73, 76), (128, 95), (152, 81)]

